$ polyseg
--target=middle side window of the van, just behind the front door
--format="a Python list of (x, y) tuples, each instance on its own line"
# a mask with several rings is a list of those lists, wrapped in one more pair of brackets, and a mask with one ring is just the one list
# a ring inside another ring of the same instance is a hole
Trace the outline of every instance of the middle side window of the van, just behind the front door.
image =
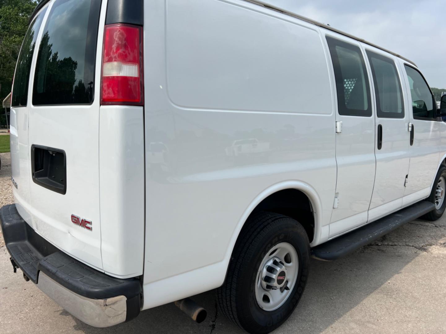
[(404, 118), (403, 92), (395, 62), (367, 51), (376, 94), (376, 115), (381, 118)]

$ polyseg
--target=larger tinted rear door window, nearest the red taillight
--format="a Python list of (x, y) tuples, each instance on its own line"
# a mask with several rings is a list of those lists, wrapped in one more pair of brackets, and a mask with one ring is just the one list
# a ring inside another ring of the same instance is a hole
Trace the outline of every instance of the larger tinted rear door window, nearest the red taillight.
[(54, 3), (37, 55), (33, 105), (93, 102), (100, 4), (100, 0)]

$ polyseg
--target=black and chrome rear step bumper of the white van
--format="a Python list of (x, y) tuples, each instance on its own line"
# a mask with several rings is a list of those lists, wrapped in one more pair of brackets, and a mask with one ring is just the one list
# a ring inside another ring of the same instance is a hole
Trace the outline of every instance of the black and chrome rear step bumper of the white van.
[(0, 226), (11, 262), (26, 278), (79, 320), (113, 326), (140, 312), (141, 285), (119, 279), (77, 261), (38, 235), (14, 204), (0, 209)]

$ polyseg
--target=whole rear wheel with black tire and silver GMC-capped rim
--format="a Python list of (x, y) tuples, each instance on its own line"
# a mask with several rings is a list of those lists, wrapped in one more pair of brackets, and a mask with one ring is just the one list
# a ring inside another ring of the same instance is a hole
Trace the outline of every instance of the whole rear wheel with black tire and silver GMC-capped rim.
[(249, 333), (269, 333), (293, 313), (305, 289), (310, 246), (296, 220), (261, 213), (237, 241), (225, 283), (222, 313)]

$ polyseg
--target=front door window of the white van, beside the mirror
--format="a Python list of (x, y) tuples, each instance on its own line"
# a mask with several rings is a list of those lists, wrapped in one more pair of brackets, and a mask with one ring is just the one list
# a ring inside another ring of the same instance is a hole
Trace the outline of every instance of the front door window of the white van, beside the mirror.
[(405, 68), (412, 96), (413, 118), (434, 120), (436, 106), (434, 106), (434, 97), (429, 86), (420, 72), (409, 65), (405, 65)]

